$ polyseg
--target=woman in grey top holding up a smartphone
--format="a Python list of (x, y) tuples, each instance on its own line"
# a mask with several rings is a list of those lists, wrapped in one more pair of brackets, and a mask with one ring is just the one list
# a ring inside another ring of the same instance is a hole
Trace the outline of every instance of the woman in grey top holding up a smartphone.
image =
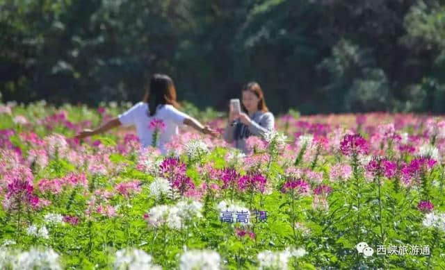
[(236, 100), (231, 101), (229, 122), (224, 132), (226, 142), (235, 142), (235, 147), (247, 152), (245, 140), (250, 136), (264, 137), (264, 134), (275, 127), (275, 118), (268, 111), (263, 90), (256, 82), (250, 82), (241, 90), (241, 106)]

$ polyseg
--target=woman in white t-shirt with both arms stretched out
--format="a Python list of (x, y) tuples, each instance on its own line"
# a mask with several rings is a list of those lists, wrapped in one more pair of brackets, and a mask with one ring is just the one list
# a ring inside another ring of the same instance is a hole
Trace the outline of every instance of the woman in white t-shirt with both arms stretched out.
[(162, 120), (164, 129), (159, 137), (159, 149), (165, 153), (165, 143), (179, 134), (179, 126), (183, 124), (195, 128), (201, 133), (218, 136), (215, 130), (209, 126), (203, 126), (199, 121), (179, 111), (176, 100), (176, 89), (172, 79), (165, 74), (154, 74), (150, 79), (149, 90), (145, 98), (122, 115), (111, 119), (103, 126), (95, 130), (83, 130), (76, 137), (83, 139), (91, 135), (104, 133), (106, 130), (117, 126), (136, 126), (138, 138), (143, 147), (152, 142), (153, 130), (149, 128), (152, 119)]

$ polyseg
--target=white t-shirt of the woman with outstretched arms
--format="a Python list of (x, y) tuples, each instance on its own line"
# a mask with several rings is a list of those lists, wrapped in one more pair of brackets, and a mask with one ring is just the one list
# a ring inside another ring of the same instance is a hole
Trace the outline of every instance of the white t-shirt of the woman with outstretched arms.
[(161, 130), (158, 145), (161, 153), (165, 153), (164, 144), (170, 142), (173, 136), (179, 135), (179, 126), (184, 124), (184, 119), (188, 118), (188, 115), (180, 112), (170, 104), (165, 104), (158, 107), (153, 117), (149, 117), (148, 104), (141, 101), (127, 110), (127, 112), (119, 115), (118, 118), (122, 126), (136, 126), (136, 133), (143, 147), (152, 144), (154, 130), (149, 128), (150, 121), (153, 118), (163, 120), (165, 128)]

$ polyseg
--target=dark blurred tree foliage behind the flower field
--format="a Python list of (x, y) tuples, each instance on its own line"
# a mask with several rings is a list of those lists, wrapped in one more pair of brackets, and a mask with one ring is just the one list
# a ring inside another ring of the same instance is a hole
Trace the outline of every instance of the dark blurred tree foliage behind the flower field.
[(138, 101), (154, 72), (227, 108), (445, 112), (439, 0), (0, 0), (3, 101)]

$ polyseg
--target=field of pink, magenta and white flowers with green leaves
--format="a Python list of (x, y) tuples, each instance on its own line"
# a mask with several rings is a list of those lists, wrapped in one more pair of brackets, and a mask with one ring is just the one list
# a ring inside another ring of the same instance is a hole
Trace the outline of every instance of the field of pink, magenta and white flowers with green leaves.
[(445, 118), (292, 113), (247, 154), (74, 139), (128, 107), (0, 104), (0, 269), (445, 269)]

